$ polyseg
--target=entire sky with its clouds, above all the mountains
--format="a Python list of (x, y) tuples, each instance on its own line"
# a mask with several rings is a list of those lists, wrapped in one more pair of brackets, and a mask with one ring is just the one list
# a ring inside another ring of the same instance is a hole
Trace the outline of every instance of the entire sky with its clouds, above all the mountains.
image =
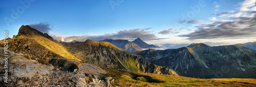
[(149, 44), (237, 44), (256, 41), (255, 2), (1, 0), (0, 26), (10, 38), (21, 25), (30, 25), (62, 41), (141, 38)]

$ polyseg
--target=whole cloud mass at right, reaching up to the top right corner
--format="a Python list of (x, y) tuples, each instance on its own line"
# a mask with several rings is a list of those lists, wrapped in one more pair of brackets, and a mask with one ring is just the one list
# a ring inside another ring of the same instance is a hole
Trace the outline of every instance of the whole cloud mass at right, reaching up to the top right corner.
[[(215, 21), (210, 24), (203, 24), (195, 32), (179, 35), (188, 37), (189, 40), (198, 39), (244, 39), (255, 38), (256, 36), (256, 0), (245, 0), (239, 3), (238, 12), (222, 12), (218, 17), (230, 17), (230, 20), (219, 20), (211, 17), (209, 20)], [(242, 15), (242, 16), (241, 16)]]

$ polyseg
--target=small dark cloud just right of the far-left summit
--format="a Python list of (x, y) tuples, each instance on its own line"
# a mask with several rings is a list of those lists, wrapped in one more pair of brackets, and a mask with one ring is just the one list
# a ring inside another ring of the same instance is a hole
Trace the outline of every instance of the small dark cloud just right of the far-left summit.
[(52, 30), (50, 28), (50, 24), (43, 23), (43, 22), (35, 23), (35, 24), (30, 24), (29, 26), (34, 28), (34, 29), (37, 29), (38, 31), (43, 32), (43, 33), (49, 33), (49, 31)]

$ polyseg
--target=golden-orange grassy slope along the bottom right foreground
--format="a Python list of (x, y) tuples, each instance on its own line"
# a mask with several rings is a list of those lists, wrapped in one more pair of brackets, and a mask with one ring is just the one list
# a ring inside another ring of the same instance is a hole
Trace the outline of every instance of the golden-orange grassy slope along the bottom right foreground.
[(139, 87), (255, 87), (256, 79), (252, 78), (218, 78), (200, 79), (173, 75), (159, 75), (151, 73), (132, 73), (123, 70), (108, 70), (107, 75), (115, 79), (115, 85)]

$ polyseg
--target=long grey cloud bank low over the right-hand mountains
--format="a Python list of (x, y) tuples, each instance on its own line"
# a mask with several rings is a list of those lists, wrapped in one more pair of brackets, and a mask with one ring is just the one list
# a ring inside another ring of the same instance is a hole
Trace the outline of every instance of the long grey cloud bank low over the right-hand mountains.
[(179, 36), (188, 37), (189, 40), (253, 38), (256, 36), (255, 16), (251, 19), (239, 17), (234, 20), (237, 19), (239, 19), (239, 21), (216, 21), (211, 24), (205, 24), (200, 26), (195, 32)]

